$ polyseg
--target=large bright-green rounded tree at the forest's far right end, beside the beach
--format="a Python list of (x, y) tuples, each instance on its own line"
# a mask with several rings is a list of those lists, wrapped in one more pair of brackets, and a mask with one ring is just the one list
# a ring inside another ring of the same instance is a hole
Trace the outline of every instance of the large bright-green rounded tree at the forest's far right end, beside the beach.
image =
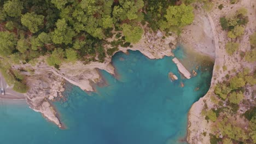
[(189, 25), (194, 20), (193, 7), (185, 4), (170, 6), (166, 10), (165, 18), (170, 26), (183, 27)]

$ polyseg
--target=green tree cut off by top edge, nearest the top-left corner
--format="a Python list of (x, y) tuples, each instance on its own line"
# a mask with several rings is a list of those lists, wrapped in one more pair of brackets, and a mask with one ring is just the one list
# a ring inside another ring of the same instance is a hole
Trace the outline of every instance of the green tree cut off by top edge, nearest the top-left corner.
[(12, 17), (19, 17), (23, 9), (23, 4), (19, 0), (7, 1), (3, 6), (6, 13)]

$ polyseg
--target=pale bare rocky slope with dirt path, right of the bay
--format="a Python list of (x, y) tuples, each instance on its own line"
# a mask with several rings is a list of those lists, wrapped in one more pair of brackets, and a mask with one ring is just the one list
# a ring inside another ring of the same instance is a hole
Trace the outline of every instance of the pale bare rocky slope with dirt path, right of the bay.
[[(223, 4), (224, 8), (222, 10), (218, 9), (218, 5)], [(199, 45), (193, 43), (194, 40), (193, 37), (196, 35), (193, 35), (191, 31), (194, 31), (194, 28), (198, 28), (197, 23), (208, 23), (208, 25), (202, 25), (200, 32), (206, 32), (209, 27), (211, 28), (210, 33), (207, 33), (208, 35), (211, 35), (209, 38), (212, 38), (212, 47), (208, 51), (212, 52), (215, 51), (215, 63), (213, 68), (213, 76), (211, 81), (211, 87), (207, 94), (201, 98), (199, 101), (194, 103), (191, 106), (191, 109), (189, 111), (188, 116), (188, 136), (187, 141), (189, 143), (195, 143), (195, 144), (204, 144), (204, 143), (210, 143), (210, 136), (211, 133), (211, 126), (212, 122), (207, 122), (205, 120), (205, 117), (201, 115), (202, 110), (204, 109), (204, 105), (207, 104), (208, 109), (212, 109), (214, 107), (214, 103), (211, 101), (211, 96), (214, 95), (214, 86), (218, 82), (223, 82), (225, 80), (225, 75), (229, 74), (229, 72), (232, 69), (235, 69), (238, 73), (243, 68), (255, 68), (255, 63), (248, 63), (244, 59), (238, 59), (240, 58), (240, 53), (237, 51), (234, 53), (234, 55), (229, 56), (225, 51), (225, 44), (228, 43), (228, 41), (231, 41), (230, 38), (227, 37), (227, 32), (222, 30), (222, 27), (219, 24), (219, 18), (223, 16), (230, 16), (232, 14), (235, 14), (236, 10), (244, 7), (248, 10), (248, 19), (249, 22), (247, 23), (247, 26), (245, 28), (245, 34), (237, 38), (237, 43), (240, 43), (240, 51), (246, 52), (251, 49), (251, 46), (249, 44), (249, 35), (251, 35), (253, 32), (256, 31), (256, 25), (255, 25), (255, 15), (256, 15), (256, 2), (253, 0), (245, 0), (238, 2), (237, 4), (230, 4), (229, 1), (214, 1), (213, 9), (210, 13), (206, 13), (203, 11), (196, 11), (199, 15), (199, 17), (205, 17), (206, 19), (197, 19), (195, 17), (195, 21), (192, 25), (188, 26), (187, 29), (185, 29), (184, 33), (187, 35), (187, 38), (191, 38), (190, 42), (188, 43), (188, 46), (190, 46), (192, 49), (195, 49), (197, 51), (200, 51), (202, 53), (205, 53), (206, 55), (209, 55), (207, 51), (204, 51), (203, 49), (205, 47), (201, 47), (201, 50), (199, 50)], [(197, 22), (198, 20), (198, 22)], [(203, 20), (203, 21), (202, 21)], [(206, 21), (206, 22), (205, 22)], [(196, 22), (196, 23), (195, 23)], [(202, 43), (203, 44), (203, 39)], [(208, 40), (206, 40), (208, 41)], [(200, 45), (201, 45), (200, 44)], [(209, 43), (210, 45), (210, 43)], [(207, 47), (206, 47), (207, 49)], [(227, 70), (222, 70), (223, 65), (227, 67)], [(252, 71), (253, 69), (251, 69)], [(235, 73), (229, 74), (230, 76), (234, 76)], [(203, 133), (206, 132), (206, 136), (203, 135)]]

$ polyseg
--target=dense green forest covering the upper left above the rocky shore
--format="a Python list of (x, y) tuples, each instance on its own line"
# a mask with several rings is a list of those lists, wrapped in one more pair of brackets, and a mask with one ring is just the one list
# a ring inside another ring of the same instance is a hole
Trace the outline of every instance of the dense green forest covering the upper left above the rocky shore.
[[(11, 70), (11, 64), (36, 63), (39, 56), (47, 56), (46, 62), (56, 68), (77, 60), (104, 62), (118, 46), (137, 43), (143, 26), (179, 32), (194, 19), (188, 2), (0, 0), (1, 71), (16, 91), (26, 92), (21, 90), (22, 76)], [(113, 35), (113, 41), (106, 40)], [(104, 47), (107, 44), (111, 47)]]

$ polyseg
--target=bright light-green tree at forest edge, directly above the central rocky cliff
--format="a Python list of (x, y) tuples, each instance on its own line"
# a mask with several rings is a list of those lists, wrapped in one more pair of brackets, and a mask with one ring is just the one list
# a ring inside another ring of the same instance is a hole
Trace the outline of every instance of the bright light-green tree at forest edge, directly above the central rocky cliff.
[(121, 27), (123, 28), (123, 34), (127, 42), (138, 43), (143, 34), (143, 29), (141, 27), (127, 24), (124, 24)]

